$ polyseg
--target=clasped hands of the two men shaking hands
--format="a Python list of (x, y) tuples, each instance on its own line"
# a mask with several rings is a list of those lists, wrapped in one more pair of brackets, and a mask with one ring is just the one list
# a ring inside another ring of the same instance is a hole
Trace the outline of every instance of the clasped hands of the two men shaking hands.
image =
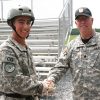
[(45, 79), (43, 82), (43, 95), (50, 95), (55, 90), (55, 85), (52, 80)]

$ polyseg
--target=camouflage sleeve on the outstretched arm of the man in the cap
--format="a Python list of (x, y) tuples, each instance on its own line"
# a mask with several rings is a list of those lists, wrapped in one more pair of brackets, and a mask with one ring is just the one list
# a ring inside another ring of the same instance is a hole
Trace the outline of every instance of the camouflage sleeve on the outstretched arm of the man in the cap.
[(49, 80), (53, 80), (56, 83), (67, 72), (69, 69), (69, 56), (70, 52), (68, 52), (68, 48), (66, 47), (62, 50), (57, 64), (50, 70), (48, 75)]

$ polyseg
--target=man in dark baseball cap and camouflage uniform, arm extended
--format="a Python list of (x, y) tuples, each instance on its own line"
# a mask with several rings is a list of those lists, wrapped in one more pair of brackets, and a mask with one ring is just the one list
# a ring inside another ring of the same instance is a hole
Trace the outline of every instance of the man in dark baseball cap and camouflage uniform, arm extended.
[(73, 100), (100, 100), (100, 33), (93, 30), (92, 14), (86, 7), (76, 10), (75, 23), (80, 35), (61, 52), (46, 81), (56, 84), (70, 69)]

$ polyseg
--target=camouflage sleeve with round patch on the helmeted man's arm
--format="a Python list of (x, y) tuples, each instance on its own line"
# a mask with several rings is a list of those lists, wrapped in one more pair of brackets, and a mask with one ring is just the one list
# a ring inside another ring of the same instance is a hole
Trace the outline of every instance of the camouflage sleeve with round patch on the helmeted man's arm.
[(3, 91), (23, 95), (41, 94), (43, 85), (37, 81), (36, 74), (23, 75), (12, 49), (3, 48), (0, 55)]

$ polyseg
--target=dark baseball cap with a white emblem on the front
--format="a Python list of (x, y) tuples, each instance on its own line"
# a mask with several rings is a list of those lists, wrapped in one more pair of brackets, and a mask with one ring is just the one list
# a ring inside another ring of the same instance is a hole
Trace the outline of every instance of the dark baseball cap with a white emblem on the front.
[(88, 9), (88, 8), (86, 8), (86, 7), (81, 7), (81, 8), (79, 8), (79, 9), (77, 9), (76, 10), (76, 12), (75, 12), (75, 20), (79, 17), (79, 16), (87, 16), (87, 17), (90, 17), (90, 16), (92, 16), (92, 13), (91, 13), (91, 11)]

